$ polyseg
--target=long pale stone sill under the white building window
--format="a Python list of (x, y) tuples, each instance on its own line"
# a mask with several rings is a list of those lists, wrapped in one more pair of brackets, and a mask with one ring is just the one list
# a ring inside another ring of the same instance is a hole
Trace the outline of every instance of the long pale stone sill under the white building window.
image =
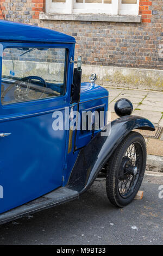
[(40, 13), (40, 20), (64, 21), (102, 21), (102, 22), (141, 22), (141, 15), (107, 15), (107, 14), (48, 14)]

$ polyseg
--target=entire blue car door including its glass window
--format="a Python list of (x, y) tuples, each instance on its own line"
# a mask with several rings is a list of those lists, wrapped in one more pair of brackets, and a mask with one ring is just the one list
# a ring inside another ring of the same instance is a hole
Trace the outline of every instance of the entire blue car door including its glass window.
[(3, 47), (0, 213), (61, 186), (67, 131), (54, 130), (53, 121), (58, 111), (64, 120), (69, 106), (64, 44)]

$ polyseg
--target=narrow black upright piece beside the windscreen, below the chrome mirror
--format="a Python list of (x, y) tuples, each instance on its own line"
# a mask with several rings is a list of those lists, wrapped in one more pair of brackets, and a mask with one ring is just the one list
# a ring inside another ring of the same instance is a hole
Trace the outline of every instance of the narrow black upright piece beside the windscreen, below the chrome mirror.
[(71, 85), (71, 103), (79, 102), (80, 100), (80, 87), (82, 80), (82, 69), (74, 69), (73, 71), (73, 84)]

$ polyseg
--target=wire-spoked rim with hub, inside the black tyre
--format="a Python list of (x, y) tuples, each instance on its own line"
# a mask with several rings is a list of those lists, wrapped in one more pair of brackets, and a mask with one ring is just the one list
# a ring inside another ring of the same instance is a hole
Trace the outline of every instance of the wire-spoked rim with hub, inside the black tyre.
[(118, 192), (122, 198), (128, 198), (133, 194), (139, 183), (142, 171), (143, 151), (139, 142), (129, 145), (122, 157), (118, 172)]

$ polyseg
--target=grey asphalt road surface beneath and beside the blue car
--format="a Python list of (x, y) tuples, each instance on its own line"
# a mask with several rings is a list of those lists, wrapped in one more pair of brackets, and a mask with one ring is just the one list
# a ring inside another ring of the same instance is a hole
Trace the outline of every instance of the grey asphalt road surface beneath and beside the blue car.
[(146, 175), (143, 199), (118, 209), (96, 180), (79, 200), (1, 225), (0, 245), (162, 245), (160, 185), (163, 176)]

